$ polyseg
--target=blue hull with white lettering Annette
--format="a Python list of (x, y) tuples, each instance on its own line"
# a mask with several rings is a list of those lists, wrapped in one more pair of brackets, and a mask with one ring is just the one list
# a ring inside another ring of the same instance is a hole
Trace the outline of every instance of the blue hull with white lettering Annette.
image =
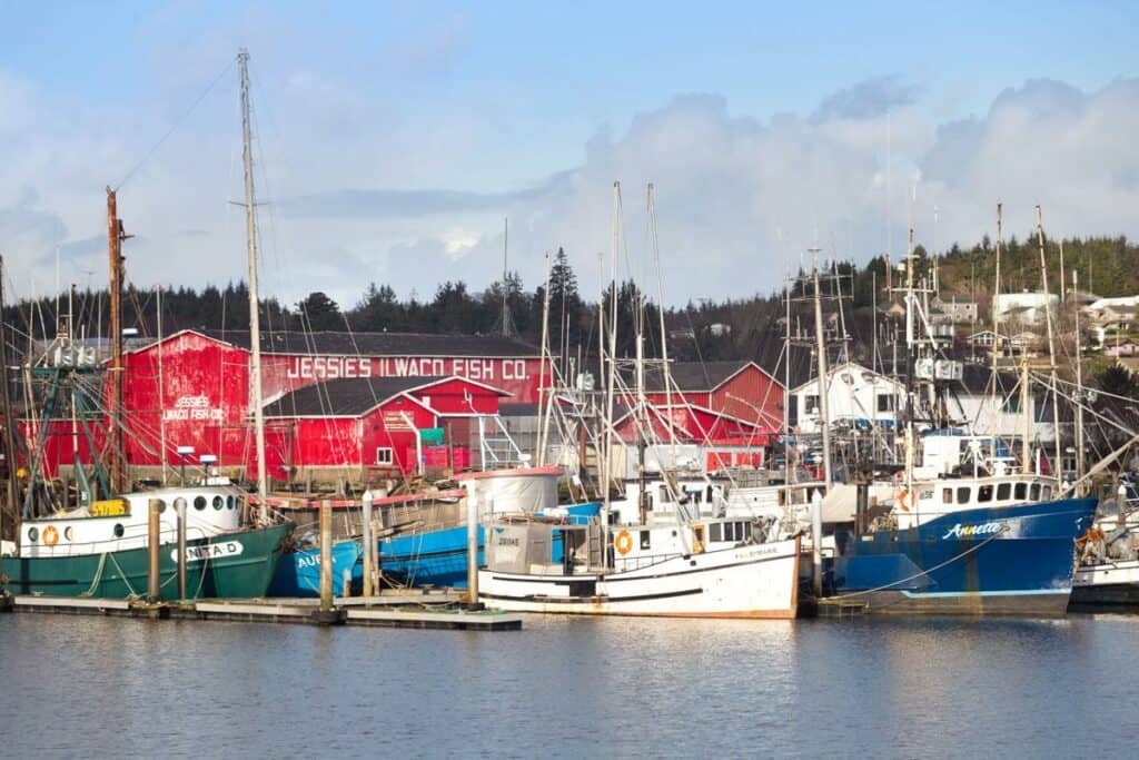
[(834, 594), (822, 608), (1062, 616), (1072, 593), (1074, 541), (1095, 509), (1095, 499), (969, 509), (850, 538), (834, 559)]

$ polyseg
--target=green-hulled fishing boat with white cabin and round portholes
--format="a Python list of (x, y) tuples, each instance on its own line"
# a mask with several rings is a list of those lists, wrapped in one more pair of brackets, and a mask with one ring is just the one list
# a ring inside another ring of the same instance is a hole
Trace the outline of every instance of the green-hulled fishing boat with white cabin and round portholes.
[(161, 505), (162, 599), (179, 597), (179, 508), (186, 515), (188, 598), (264, 596), (293, 525), (241, 528), (245, 493), (228, 484), (125, 493), (25, 520), (17, 554), (0, 557), (0, 587), (11, 594), (106, 599), (145, 595), (151, 501)]

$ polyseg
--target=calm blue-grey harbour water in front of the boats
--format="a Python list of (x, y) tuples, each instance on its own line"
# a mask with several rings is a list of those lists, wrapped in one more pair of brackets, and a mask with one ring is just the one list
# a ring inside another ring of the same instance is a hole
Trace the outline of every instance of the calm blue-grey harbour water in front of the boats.
[(1139, 616), (531, 618), (470, 634), (0, 615), (0, 755), (1134, 757)]

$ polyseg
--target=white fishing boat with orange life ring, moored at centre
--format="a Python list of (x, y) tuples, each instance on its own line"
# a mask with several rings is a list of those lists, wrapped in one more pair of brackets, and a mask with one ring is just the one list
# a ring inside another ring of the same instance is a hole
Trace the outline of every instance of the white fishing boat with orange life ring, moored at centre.
[(502, 518), (478, 598), (502, 610), (670, 618), (795, 618), (798, 539), (746, 520), (607, 526)]

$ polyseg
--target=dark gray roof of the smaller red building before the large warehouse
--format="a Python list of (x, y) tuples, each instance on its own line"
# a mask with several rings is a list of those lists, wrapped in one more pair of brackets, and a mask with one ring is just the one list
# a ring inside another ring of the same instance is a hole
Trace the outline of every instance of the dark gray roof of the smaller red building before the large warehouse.
[(360, 417), (392, 397), (445, 377), (352, 377), (317, 383), (265, 406), (265, 417)]

